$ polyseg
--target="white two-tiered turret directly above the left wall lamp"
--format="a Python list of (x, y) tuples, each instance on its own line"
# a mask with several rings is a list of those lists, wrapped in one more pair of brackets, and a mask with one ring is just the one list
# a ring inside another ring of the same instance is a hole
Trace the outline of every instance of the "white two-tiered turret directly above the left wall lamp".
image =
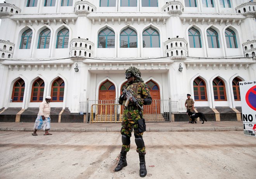
[(73, 38), (70, 41), (69, 57), (83, 56), (92, 57), (93, 56), (93, 46), (94, 43), (84, 38)]

